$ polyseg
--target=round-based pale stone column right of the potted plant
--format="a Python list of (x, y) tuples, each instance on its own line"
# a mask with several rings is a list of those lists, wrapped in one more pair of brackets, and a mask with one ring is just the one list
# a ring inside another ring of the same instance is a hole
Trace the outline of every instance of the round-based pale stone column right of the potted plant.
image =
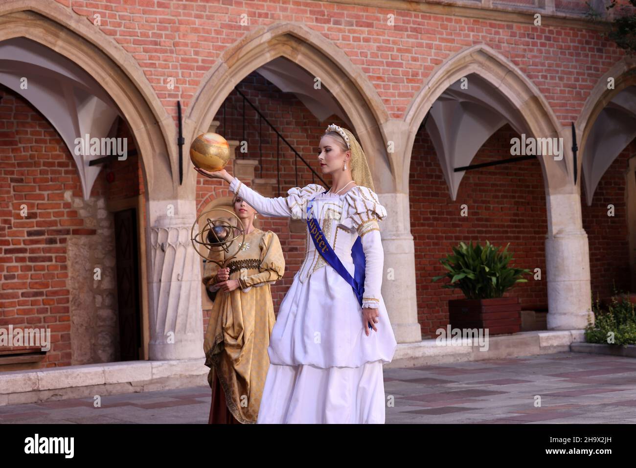
[(590, 252), (577, 193), (547, 195), (548, 329), (584, 329), (591, 313)]

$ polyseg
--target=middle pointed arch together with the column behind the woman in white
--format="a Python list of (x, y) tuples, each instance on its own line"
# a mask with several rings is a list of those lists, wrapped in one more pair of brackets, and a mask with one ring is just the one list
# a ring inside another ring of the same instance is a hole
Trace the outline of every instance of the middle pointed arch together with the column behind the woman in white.
[[(296, 69), (309, 76), (310, 87), (317, 82), (321, 83), (322, 87), (328, 90), (331, 99), (345, 110), (347, 118), (343, 119), (343, 123), (351, 123), (352, 132), (357, 135), (363, 146), (378, 195), (381, 198), (383, 195), (387, 196), (391, 202), (400, 196), (401, 194), (394, 193), (397, 156), (389, 154), (387, 149), (390, 133), (387, 130), (390, 125), (387, 124), (390, 120), (377, 90), (342, 50), (322, 34), (298, 24), (273, 24), (261, 27), (242, 38), (237, 45), (223, 54), (218, 64), (206, 74), (191, 102), (186, 120), (190, 134), (207, 132), (215, 119), (217, 123), (214, 128), (221, 125), (223, 102), (240, 81), (255, 69), (260, 68), (262, 71), (263, 68), (268, 68), (272, 72), (272, 68), (284, 67), (285, 65), (280, 64), (280, 59), (291, 62)], [(324, 128), (315, 135), (313, 146), (322, 132)], [(267, 195), (266, 190), (261, 193)], [(392, 207), (397, 207), (397, 203)], [(403, 227), (403, 223), (394, 220), (391, 226), (385, 228), (385, 266), (399, 273), (394, 284), (383, 282), (383, 296), (397, 340), (419, 341), (419, 328), (414, 319), (415, 298), (410, 289), (412, 284), (410, 281), (401, 281), (401, 275), (412, 277), (408, 266), (412, 265), (413, 258), (412, 252), (403, 245), (409, 240), (403, 235)], [(304, 233), (304, 230), (302, 232)], [(399, 286), (396, 286), (397, 283)], [(405, 297), (408, 297), (406, 302)], [(405, 305), (407, 302), (408, 305)]]

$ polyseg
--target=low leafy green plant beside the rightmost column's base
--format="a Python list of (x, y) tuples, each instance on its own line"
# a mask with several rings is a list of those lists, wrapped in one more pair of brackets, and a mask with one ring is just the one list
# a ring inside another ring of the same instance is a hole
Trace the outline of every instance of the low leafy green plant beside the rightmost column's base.
[[(623, 296), (623, 297), (621, 297)], [(621, 297), (621, 301), (619, 301)], [(619, 296), (616, 287), (612, 294), (611, 303), (604, 310), (598, 301), (592, 296), (592, 311), (594, 312), (594, 324), (588, 319), (585, 327), (585, 341), (588, 343), (603, 343), (613, 345), (636, 345), (636, 312), (634, 305), (621, 293)], [(609, 336), (613, 336), (613, 343), (608, 343)]]

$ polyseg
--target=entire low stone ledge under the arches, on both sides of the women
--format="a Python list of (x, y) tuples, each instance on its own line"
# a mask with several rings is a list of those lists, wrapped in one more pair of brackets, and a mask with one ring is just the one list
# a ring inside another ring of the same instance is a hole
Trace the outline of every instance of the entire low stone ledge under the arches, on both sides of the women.
[[(598, 345), (603, 347), (605, 345)], [(488, 337), (478, 345), (440, 346), (436, 339), (397, 345), (385, 368), (409, 368), (483, 359), (504, 359), (556, 352), (591, 352), (583, 330), (526, 331)], [(636, 351), (636, 348), (632, 348)], [(125, 361), (0, 373), (0, 406), (95, 395), (116, 395), (208, 385), (204, 359)]]

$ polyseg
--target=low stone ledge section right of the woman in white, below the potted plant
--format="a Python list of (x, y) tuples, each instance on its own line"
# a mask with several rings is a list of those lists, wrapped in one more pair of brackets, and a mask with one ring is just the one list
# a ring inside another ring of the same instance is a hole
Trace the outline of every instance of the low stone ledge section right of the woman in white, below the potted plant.
[(434, 364), (450, 364), (484, 359), (532, 356), (568, 352), (572, 343), (584, 341), (583, 330), (523, 331), (521, 333), (488, 336), (487, 350), (478, 345), (441, 346), (436, 338), (418, 343), (400, 343), (385, 368), (409, 368)]

